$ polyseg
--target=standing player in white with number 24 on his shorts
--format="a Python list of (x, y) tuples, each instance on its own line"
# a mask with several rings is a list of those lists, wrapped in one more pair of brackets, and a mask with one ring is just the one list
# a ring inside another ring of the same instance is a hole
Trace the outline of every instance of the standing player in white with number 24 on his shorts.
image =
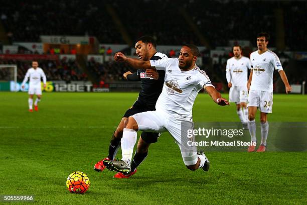
[[(278, 56), (268, 50), (269, 35), (259, 33), (257, 35), (258, 50), (250, 54), (252, 71), (247, 82), (248, 93), (248, 129), (251, 141), (256, 144), (255, 115), (260, 110), (261, 143), (257, 152), (264, 152), (268, 135), (267, 114), (272, 113), (273, 106), (273, 72), (277, 70), (285, 86), (285, 92), (291, 91), (287, 76), (282, 69)], [(255, 151), (255, 145), (248, 147), (248, 152)]]

